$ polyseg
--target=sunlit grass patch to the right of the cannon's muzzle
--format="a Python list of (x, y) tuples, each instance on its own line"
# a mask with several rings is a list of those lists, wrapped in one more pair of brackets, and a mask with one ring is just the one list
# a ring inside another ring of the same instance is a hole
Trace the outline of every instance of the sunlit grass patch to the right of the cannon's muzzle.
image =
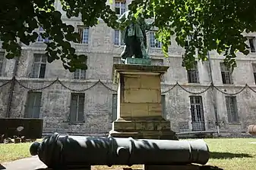
[(207, 139), (210, 160), (207, 164), (225, 170), (256, 169), (256, 138)]

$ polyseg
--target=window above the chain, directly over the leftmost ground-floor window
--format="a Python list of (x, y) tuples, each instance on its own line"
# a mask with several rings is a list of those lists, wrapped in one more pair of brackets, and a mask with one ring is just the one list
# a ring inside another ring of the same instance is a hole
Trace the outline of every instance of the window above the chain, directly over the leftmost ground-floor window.
[(46, 55), (45, 54), (33, 54), (33, 66), (30, 78), (45, 78), (46, 75)]

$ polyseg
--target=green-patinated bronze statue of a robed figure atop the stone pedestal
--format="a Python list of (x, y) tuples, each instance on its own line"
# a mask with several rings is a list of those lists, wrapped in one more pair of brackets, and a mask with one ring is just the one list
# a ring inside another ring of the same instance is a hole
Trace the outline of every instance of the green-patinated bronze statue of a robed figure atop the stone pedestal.
[[(128, 12), (126, 11), (119, 20), (127, 20)], [(128, 57), (148, 58), (146, 52), (147, 36), (146, 30), (149, 30), (153, 23), (146, 23), (144, 17), (140, 16), (122, 30), (122, 41), (125, 44), (125, 49), (122, 51), (121, 57), (123, 62)]]

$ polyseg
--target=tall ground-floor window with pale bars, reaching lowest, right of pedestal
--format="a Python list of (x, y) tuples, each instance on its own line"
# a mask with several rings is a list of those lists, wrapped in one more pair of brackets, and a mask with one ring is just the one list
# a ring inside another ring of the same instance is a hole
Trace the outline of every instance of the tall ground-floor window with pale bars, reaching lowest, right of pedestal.
[(204, 109), (201, 96), (190, 96), (192, 131), (205, 131)]

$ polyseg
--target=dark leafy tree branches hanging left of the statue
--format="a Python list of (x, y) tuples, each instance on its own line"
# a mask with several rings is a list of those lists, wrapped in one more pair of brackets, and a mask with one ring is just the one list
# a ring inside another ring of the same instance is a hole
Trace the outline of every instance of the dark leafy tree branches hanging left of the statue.
[[(2, 48), (7, 51), (8, 59), (21, 55), (21, 43), (30, 45), (38, 36), (45, 42), (48, 62), (61, 59), (65, 69), (74, 72), (76, 69), (86, 70), (84, 54), (77, 55), (71, 42), (78, 42), (80, 36), (74, 26), (62, 21), (62, 14), (55, 10), (54, 0), (1, 0), (0, 1), (0, 39)], [(101, 17), (108, 26), (113, 26), (117, 17), (106, 1), (103, 0), (67, 0), (60, 1), (68, 18), (78, 17), (85, 26), (95, 26)], [(35, 30), (42, 27), (45, 33)], [(21, 43), (20, 43), (21, 42)]]

